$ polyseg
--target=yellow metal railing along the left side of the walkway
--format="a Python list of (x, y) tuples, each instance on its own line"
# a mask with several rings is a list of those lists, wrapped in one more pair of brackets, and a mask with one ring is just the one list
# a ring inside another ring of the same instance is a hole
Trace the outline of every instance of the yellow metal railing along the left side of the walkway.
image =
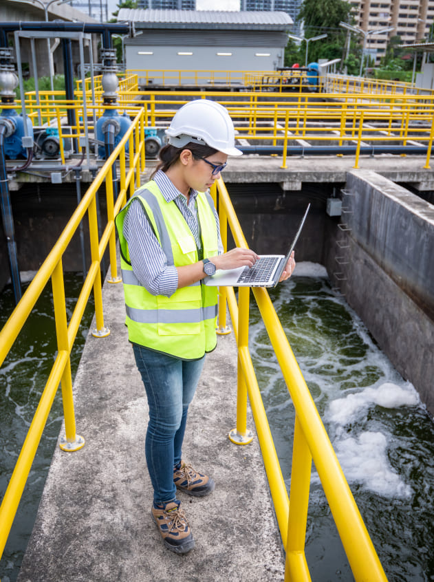
[[(128, 160), (125, 153), (126, 145), (129, 146)], [(30, 469), (32, 468), (34, 455), (41, 440), (45, 422), (52, 407), (59, 383), (61, 383), (62, 389), (66, 433), (65, 438), (61, 441), (61, 448), (65, 451), (75, 451), (80, 449), (84, 444), (84, 439), (76, 433), (69, 356), (92, 290), (94, 293), (96, 316), (96, 330), (94, 330), (93, 334), (96, 337), (103, 337), (109, 333), (109, 330), (104, 325), (102, 310), (100, 263), (105, 250), (109, 248), (111, 282), (120, 282), (117, 276), (114, 217), (120, 208), (122, 208), (124, 202), (126, 202), (127, 193), (131, 195), (135, 191), (135, 188), (140, 185), (140, 172), (144, 170), (144, 162), (144, 110), (141, 110), (135, 116), (131, 127), (125, 133), (116, 149), (114, 149), (109, 160), (100, 169), (96, 179), (85, 193), (80, 204), (78, 204), (65, 230), (63, 230), (61, 237), (52, 248), (52, 251), (23, 294), (17, 308), (15, 308), (0, 332), (1, 365), (14, 341), (19, 336), (26, 319), (32, 312), (45, 285), (51, 279), (58, 352), (0, 506), (0, 557), (6, 545), (10, 528), (14, 521), (14, 516), (17, 512)], [(116, 195), (116, 200), (113, 197), (113, 164), (118, 164), (120, 171), (120, 190)], [(99, 237), (96, 197), (98, 195), (98, 189), (103, 184), (105, 184), (106, 190), (107, 223)], [(83, 282), (83, 287), (80, 291), (74, 312), (68, 323), (65, 309), (62, 258), (74, 233), (76, 233), (80, 227), (80, 223), (86, 216), (89, 223), (91, 264), (85, 281)]]

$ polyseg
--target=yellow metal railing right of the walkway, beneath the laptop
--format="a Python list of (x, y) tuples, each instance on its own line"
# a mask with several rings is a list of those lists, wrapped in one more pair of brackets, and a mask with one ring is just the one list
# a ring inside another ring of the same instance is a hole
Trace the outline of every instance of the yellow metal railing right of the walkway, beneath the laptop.
[[(227, 228), (230, 227), (236, 246), (247, 246), (230, 197), (220, 179), (213, 186), (218, 193), (219, 219), (224, 248), (227, 247)], [(292, 455), (291, 488), (288, 499), (285, 482), (272, 441), (268, 420), (248, 349), (250, 289), (239, 288), (238, 302), (233, 288), (221, 288), (218, 329), (226, 330), (226, 300), (232, 318), (238, 347), (237, 435), (248, 438), (246, 428), (247, 394), (252, 407), (255, 427), (263, 455), (265, 471), (276, 510), (276, 517), (286, 550), (285, 582), (310, 581), (305, 559), (307, 506), (310, 491), (312, 460), (321, 479), (330, 510), (338, 528), (351, 570), (357, 582), (386, 581), (386, 575), (362, 521), (360, 512), (340, 468), (332, 444), (296, 363), (285, 332), (265, 288), (253, 288), (259, 311), (270, 337), (272, 347), (290, 392), (296, 420)], [(231, 438), (232, 440), (232, 438)]]

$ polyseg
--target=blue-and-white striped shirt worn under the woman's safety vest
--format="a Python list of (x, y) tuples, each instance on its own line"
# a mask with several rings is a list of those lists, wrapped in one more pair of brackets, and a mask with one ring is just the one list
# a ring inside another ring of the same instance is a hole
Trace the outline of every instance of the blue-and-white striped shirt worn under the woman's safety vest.
[[(191, 188), (190, 197), (186, 197), (173, 185), (169, 177), (159, 170), (153, 180), (166, 202), (175, 201), (180, 209), (188, 228), (195, 238), (197, 249), (202, 250), (200, 237), (200, 225), (197, 218), (197, 191)], [(215, 224), (219, 242), (219, 254), (223, 252), (220, 239), (219, 217), (214, 210)], [(144, 208), (138, 200), (133, 200), (129, 205), (127, 216), (124, 220), (123, 233), (127, 239), (131, 266), (135, 277), (153, 295), (165, 295), (171, 297), (177, 290), (178, 274), (175, 266), (168, 266), (157, 237), (155, 237), (149, 221), (144, 215)]]

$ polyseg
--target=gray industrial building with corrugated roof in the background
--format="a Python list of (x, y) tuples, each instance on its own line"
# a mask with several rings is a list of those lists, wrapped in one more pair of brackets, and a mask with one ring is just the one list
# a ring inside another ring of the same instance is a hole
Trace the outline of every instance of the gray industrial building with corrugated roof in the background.
[(292, 28), (285, 12), (122, 8), (118, 21), (136, 31), (124, 42), (127, 69), (147, 71), (272, 71)]

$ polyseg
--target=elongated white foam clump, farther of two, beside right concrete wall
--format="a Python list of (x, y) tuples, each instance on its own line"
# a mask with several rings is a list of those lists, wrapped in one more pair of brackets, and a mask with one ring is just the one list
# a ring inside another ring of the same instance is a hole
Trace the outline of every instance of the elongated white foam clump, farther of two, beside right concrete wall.
[(372, 405), (383, 408), (399, 408), (402, 406), (420, 405), (420, 398), (410, 382), (398, 386), (393, 382), (384, 382), (378, 387), (369, 387), (356, 394), (348, 394), (330, 402), (327, 420), (336, 424), (356, 422), (360, 416), (365, 416)]

